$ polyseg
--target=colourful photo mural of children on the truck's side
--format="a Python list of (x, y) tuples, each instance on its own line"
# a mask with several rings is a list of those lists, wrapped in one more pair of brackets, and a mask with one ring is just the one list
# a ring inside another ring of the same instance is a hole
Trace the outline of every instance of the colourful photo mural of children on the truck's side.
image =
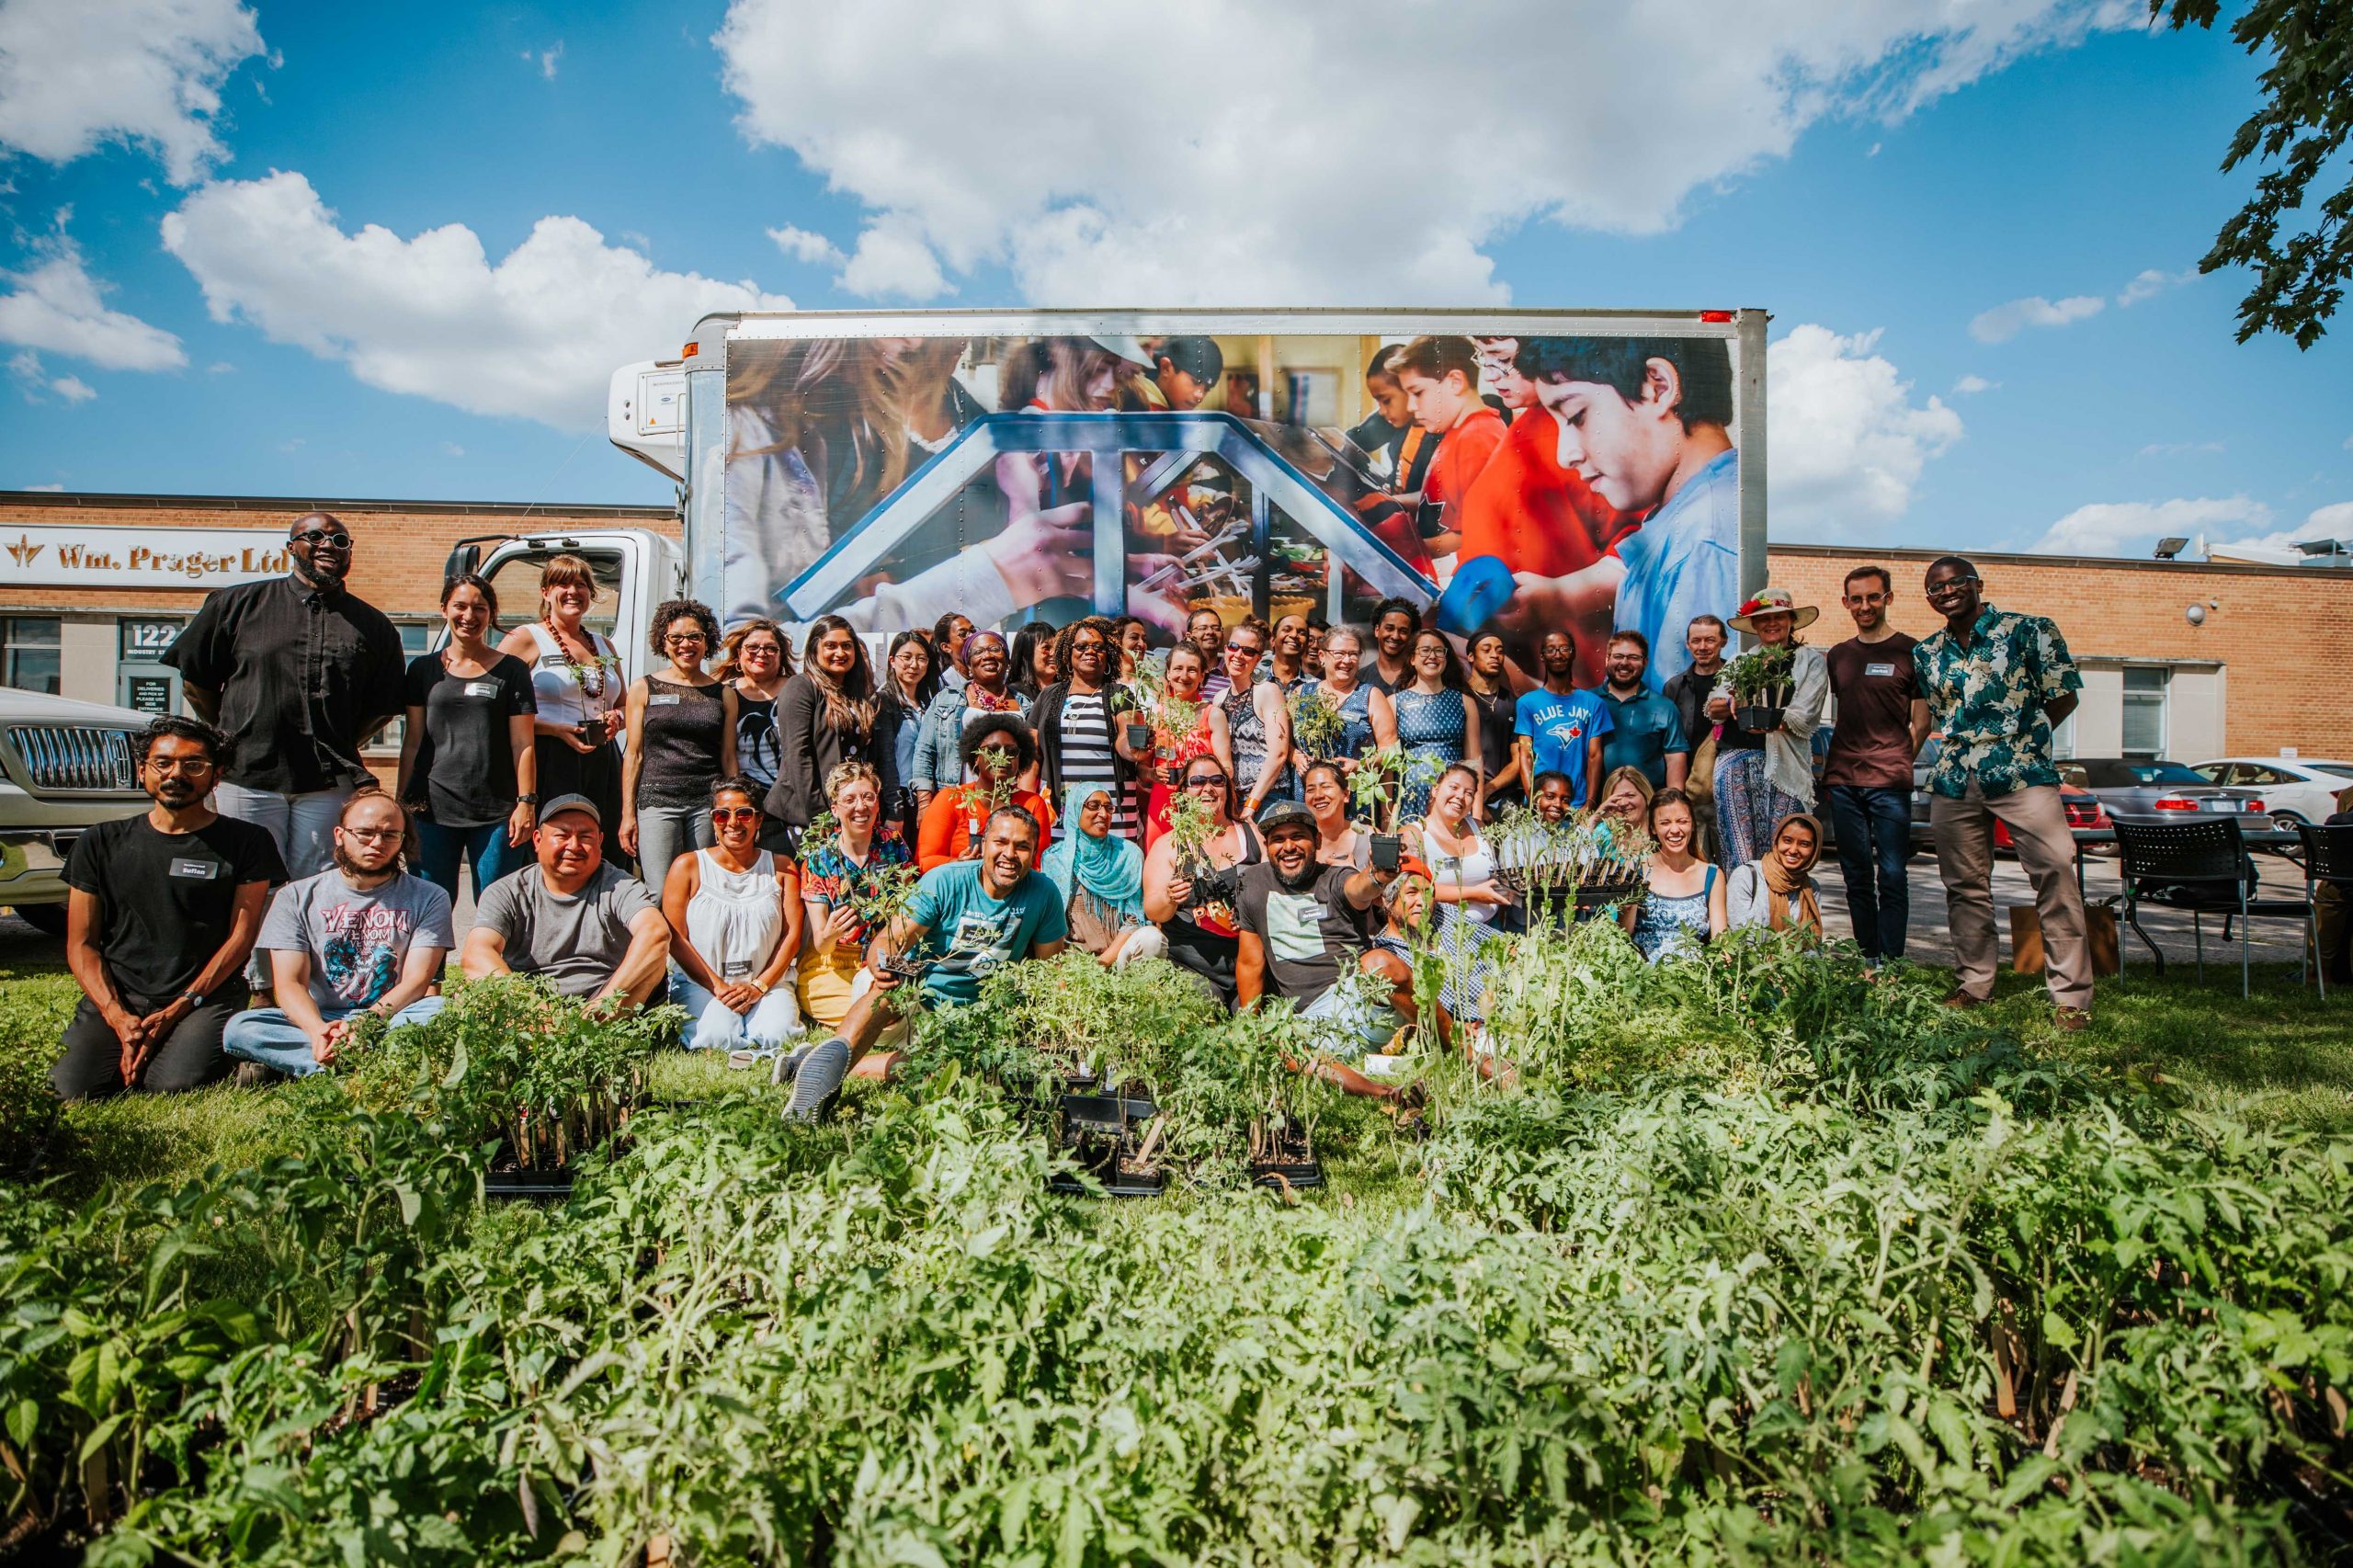
[[(1367, 438), (1400, 386), (1431, 461)], [(1092, 610), (1179, 640), (1200, 607), (1395, 596), (1459, 643), (1501, 631), (1515, 690), (1546, 631), (1579, 683), (1642, 631), (1659, 683), (1685, 622), (1739, 598), (1732, 396), (1725, 337), (739, 337), (727, 619)]]

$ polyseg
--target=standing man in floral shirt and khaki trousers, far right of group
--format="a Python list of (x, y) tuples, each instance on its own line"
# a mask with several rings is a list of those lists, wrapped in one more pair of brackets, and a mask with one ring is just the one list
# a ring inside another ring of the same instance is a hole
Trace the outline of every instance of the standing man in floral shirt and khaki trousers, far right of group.
[(2040, 614), (2009, 614), (1984, 598), (1977, 567), (1944, 556), (1927, 570), (1929, 610), (1944, 631), (1913, 647), (1913, 669), (1944, 751), (1929, 775), (1929, 829), (1953, 932), (1948, 1008), (1993, 996), (1993, 822), (2009, 824), (2042, 916), (2045, 979), (2061, 1029), (2092, 1022), (2092, 954), (2082, 937), (2075, 838), (2059, 803), (2052, 725), (2075, 711), (2082, 676), (2066, 638)]

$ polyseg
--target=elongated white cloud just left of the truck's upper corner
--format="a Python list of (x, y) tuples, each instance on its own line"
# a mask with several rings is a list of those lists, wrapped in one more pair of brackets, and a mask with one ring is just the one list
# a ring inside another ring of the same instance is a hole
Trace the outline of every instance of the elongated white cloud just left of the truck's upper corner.
[(369, 386), (579, 431), (605, 384), (678, 353), (706, 311), (791, 311), (784, 294), (666, 273), (576, 217), (544, 217), (496, 264), (461, 224), (344, 233), (301, 174), (219, 181), (162, 221), (214, 320), (341, 360)]

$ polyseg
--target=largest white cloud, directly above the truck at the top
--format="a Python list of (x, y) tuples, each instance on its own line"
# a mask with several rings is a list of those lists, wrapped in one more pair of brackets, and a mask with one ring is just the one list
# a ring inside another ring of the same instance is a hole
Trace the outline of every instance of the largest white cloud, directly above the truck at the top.
[[(1482, 247), (1520, 224), (1657, 233), (1826, 115), (1897, 120), (2132, 21), (2127, 0), (732, 0), (715, 45), (744, 137), (880, 226), (845, 287), (1002, 264), (1038, 304), (1478, 304), (1506, 297)], [(1207, 87), (1235, 71), (1252, 87)]]

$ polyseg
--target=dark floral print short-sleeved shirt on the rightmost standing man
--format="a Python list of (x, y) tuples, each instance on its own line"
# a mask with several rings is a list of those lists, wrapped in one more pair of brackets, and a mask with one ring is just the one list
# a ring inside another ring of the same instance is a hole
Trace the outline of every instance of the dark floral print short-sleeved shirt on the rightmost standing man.
[(2080, 692), (2082, 676), (2047, 617), (1984, 605), (1967, 647), (1939, 631), (1913, 645), (1913, 669), (1944, 732), (1932, 793), (1958, 800), (1972, 782), (1988, 796), (2059, 784), (2042, 709)]

